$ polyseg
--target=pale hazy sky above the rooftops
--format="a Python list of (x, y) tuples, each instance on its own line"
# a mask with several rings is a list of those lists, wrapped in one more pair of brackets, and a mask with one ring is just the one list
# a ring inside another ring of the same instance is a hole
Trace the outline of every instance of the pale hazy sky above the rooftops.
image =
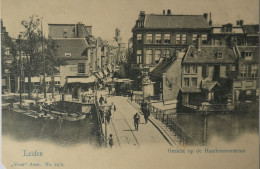
[(140, 11), (162, 14), (212, 13), (213, 24), (259, 23), (258, 0), (1, 0), (1, 18), (9, 35), (16, 38), (23, 31), (22, 20), (33, 14), (43, 17), (43, 29), (48, 35), (48, 23), (92, 25), (93, 35), (112, 39), (115, 29), (121, 30), (124, 42), (132, 36)]

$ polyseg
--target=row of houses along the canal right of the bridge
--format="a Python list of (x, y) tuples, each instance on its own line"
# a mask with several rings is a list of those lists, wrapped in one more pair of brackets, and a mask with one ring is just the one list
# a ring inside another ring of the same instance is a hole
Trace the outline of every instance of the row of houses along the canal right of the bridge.
[(149, 95), (194, 107), (258, 99), (259, 25), (141, 11), (132, 32), (130, 62), (150, 78)]

